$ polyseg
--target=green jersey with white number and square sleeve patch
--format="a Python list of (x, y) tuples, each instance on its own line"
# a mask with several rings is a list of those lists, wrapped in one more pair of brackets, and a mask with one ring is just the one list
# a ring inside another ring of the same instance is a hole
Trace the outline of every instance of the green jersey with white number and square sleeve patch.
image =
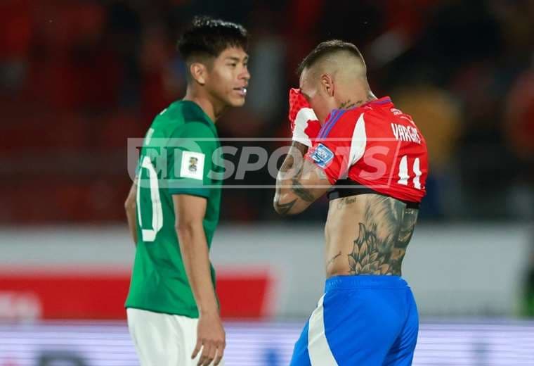
[[(126, 308), (198, 317), (175, 229), (173, 194), (207, 199), (208, 248), (219, 222), (223, 167), (214, 122), (192, 101), (159, 113), (141, 149), (137, 180), (137, 248)], [(215, 271), (211, 265), (211, 279)]]

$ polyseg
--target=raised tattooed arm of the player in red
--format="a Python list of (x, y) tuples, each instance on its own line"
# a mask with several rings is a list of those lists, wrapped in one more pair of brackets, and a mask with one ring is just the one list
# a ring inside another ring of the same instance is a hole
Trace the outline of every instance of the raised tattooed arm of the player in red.
[(280, 215), (301, 213), (330, 188), (325, 172), (304, 159), (307, 151), (307, 146), (293, 141), (278, 172), (273, 206)]

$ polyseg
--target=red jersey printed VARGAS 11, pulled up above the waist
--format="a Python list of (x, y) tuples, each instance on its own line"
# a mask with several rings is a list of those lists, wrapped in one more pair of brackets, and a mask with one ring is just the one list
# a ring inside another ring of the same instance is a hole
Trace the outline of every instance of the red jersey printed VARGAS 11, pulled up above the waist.
[(339, 189), (356, 185), (414, 203), (426, 193), (426, 142), (389, 97), (332, 111), (306, 158)]

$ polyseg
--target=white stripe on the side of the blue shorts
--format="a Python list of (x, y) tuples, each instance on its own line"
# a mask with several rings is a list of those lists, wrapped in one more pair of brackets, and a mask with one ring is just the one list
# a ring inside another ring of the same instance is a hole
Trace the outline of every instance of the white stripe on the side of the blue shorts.
[(311, 313), (308, 324), (308, 354), (312, 366), (337, 366), (337, 362), (330, 351), (325, 334), (325, 319), (323, 317), (323, 295), (317, 303), (317, 308)]

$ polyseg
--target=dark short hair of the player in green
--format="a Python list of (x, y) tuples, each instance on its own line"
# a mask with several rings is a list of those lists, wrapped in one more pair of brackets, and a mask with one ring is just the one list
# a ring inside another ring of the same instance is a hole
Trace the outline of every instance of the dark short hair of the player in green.
[(178, 40), (178, 51), (187, 62), (195, 56), (218, 57), (228, 47), (247, 51), (249, 35), (239, 24), (197, 16)]

